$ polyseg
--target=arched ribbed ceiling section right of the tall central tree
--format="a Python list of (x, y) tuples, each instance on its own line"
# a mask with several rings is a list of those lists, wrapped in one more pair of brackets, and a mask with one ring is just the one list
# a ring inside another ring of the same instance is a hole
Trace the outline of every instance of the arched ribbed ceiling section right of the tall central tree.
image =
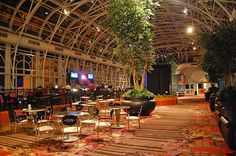
[[(235, 0), (155, 1), (160, 4), (155, 20), (156, 51), (178, 63), (202, 54), (195, 40), (199, 32), (211, 31), (221, 21), (235, 18)], [(193, 27), (192, 34), (186, 33), (188, 26)]]

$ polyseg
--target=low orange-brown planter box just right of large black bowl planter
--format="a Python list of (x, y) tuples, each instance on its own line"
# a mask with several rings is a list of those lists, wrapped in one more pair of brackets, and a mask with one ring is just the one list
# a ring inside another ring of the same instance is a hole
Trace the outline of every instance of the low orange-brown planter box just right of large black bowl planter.
[(156, 101), (156, 105), (158, 105), (158, 106), (176, 105), (177, 104), (177, 96), (156, 97), (155, 101)]

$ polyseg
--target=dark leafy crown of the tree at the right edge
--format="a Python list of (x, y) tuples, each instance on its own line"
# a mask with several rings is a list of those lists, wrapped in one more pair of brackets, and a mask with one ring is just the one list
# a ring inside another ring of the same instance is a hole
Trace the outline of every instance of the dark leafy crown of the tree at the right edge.
[(210, 80), (236, 70), (236, 21), (227, 21), (199, 36), (200, 46), (206, 54), (200, 59), (201, 69), (208, 73)]

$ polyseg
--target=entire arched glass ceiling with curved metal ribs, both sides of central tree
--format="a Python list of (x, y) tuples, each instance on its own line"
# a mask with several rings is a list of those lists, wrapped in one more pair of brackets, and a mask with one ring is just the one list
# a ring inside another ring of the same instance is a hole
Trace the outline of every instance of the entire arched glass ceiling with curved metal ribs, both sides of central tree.
[[(235, 0), (155, 0), (154, 45), (158, 54), (186, 62), (193, 50), (195, 35), (211, 31), (222, 20), (235, 18)], [(81, 53), (112, 61), (116, 41), (101, 27), (108, 0), (2, 0), (0, 26), (19, 35), (31, 35), (49, 44), (58, 44)], [(187, 34), (188, 26), (194, 33)]]

